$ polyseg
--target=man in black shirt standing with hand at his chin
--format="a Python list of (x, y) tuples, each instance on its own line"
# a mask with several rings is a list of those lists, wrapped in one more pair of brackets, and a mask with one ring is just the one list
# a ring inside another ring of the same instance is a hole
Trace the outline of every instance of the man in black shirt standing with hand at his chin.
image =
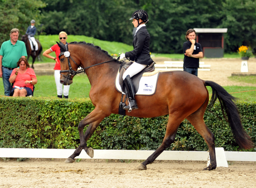
[(189, 29), (185, 36), (187, 42), (183, 43), (183, 70), (197, 76), (199, 68), (199, 58), (203, 58), (203, 50), (201, 44), (195, 42), (195, 37), (195, 30)]

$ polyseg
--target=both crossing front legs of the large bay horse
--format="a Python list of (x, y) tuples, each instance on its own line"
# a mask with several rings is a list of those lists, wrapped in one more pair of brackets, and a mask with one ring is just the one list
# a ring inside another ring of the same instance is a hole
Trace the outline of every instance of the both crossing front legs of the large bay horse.
[[(93, 132), (97, 129), (98, 125), (101, 123), (101, 121), (106, 116), (103, 115), (102, 112), (99, 112), (98, 110), (94, 109), (90, 114), (88, 114), (81, 122), (79, 122), (78, 125), (78, 132), (80, 137), (80, 145), (79, 147), (74, 151), (74, 153), (65, 161), (66, 163), (73, 163), (74, 158), (77, 157), (82, 149), (85, 150), (85, 152), (93, 158), (93, 149), (87, 147), (86, 141), (91, 138)], [(83, 129), (86, 125), (89, 125), (86, 132), (83, 135)]]

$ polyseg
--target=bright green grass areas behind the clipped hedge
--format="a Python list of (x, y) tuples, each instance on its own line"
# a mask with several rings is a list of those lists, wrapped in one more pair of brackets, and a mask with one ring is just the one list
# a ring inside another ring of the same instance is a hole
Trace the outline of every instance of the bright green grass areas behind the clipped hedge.
[[(39, 41), (43, 46), (43, 51), (49, 49), (52, 45), (56, 44), (58, 41), (58, 35), (39, 35)], [(108, 51), (110, 55), (123, 53), (133, 49), (131, 45), (111, 42), (111, 41), (102, 41), (92, 37), (82, 36), (82, 35), (68, 35), (68, 42), (71, 41), (86, 41), (87, 43), (93, 43), (101, 47), (101, 49)], [(52, 56), (55, 56), (55, 53), (51, 53)], [(172, 59), (183, 59), (184, 54), (155, 54), (156, 57), (167, 57)], [(119, 56), (119, 55), (117, 55)], [(239, 58), (238, 53), (233, 54), (224, 54), (224, 58)], [(29, 59), (29, 62), (32, 62), (32, 59)], [(43, 55), (40, 57), (40, 61), (35, 63), (48, 63), (53, 62), (48, 58), (45, 58)], [(57, 91), (53, 75), (37, 76), (38, 84), (35, 85), (34, 97), (56, 97)], [(245, 83), (255, 83), (255, 76), (232, 76), (229, 79), (245, 82)], [(89, 97), (91, 85), (85, 74), (78, 74), (74, 76), (73, 84), (71, 84), (69, 89), (69, 98), (84, 98)], [(248, 91), (242, 93), (232, 94), (235, 97), (238, 97), (242, 100), (252, 100), (256, 101), (256, 92), (249, 91), (255, 90), (256, 87), (247, 87), (247, 86), (226, 86), (224, 87), (229, 93), (234, 93), (238, 91)], [(209, 93), (211, 94), (211, 88), (208, 87)], [(4, 86), (3, 81), (0, 80), (0, 95), (4, 95)]]

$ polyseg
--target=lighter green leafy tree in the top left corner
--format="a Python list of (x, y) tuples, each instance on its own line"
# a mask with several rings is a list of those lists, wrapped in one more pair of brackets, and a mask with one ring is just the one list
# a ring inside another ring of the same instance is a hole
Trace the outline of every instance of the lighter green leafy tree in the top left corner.
[(10, 39), (9, 33), (13, 28), (18, 28), (20, 34), (25, 34), (30, 20), (40, 23), (40, 10), (46, 6), (40, 0), (0, 0), (0, 45)]

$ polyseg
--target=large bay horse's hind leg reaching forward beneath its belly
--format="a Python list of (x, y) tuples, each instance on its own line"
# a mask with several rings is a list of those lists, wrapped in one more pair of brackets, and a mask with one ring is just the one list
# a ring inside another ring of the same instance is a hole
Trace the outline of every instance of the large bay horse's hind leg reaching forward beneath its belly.
[(168, 124), (166, 127), (166, 133), (164, 136), (164, 140), (160, 147), (155, 150), (153, 154), (151, 154), (143, 163), (139, 164), (137, 168), (141, 170), (147, 169), (147, 164), (153, 163), (154, 160), (166, 149), (168, 148), (175, 139), (175, 135), (177, 133), (178, 127), (180, 123), (182, 123), (183, 119), (175, 119), (169, 115)]

